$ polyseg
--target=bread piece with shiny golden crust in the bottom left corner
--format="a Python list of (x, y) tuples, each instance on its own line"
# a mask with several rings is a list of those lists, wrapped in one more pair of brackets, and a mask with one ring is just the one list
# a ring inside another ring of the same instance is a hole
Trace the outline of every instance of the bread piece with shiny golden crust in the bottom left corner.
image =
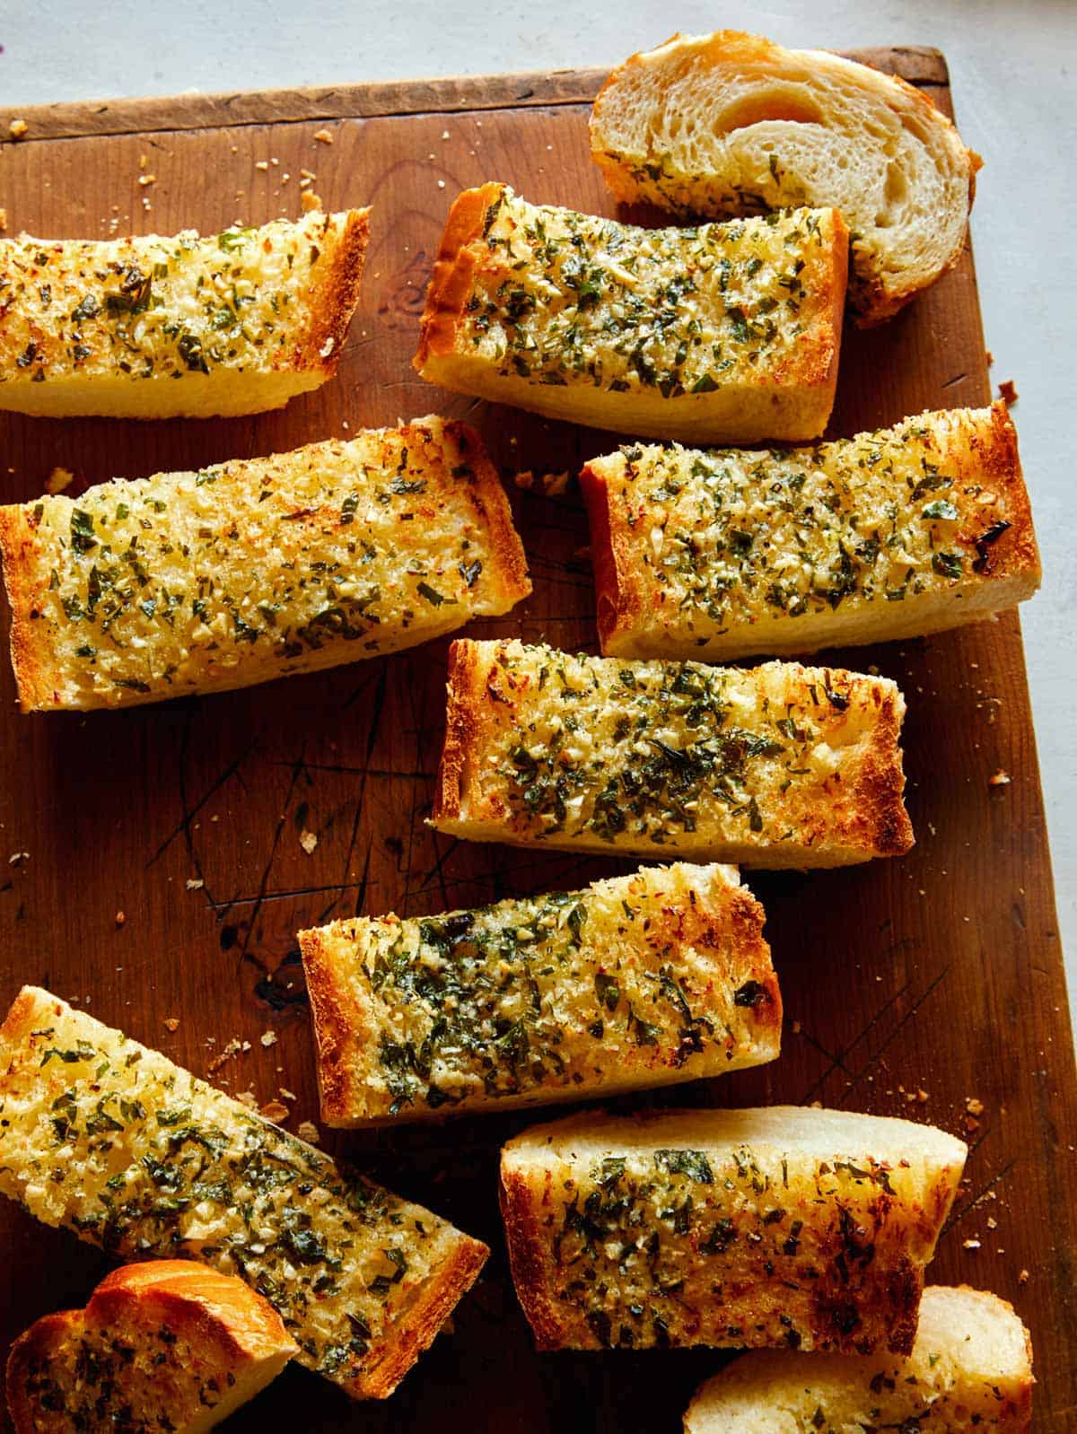
[(280, 1315), (235, 1275), (189, 1260), (113, 1271), (85, 1309), (46, 1315), (11, 1347), (14, 1434), (204, 1434), (297, 1355)]

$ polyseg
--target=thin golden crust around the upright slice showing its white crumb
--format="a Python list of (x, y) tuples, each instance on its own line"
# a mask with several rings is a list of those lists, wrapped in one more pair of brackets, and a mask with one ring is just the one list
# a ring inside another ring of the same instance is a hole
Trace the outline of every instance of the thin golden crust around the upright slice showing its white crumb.
[[(774, 54), (780, 57), (787, 53), (786, 46), (776, 44), (773, 40), (767, 40), (763, 36), (750, 34), (743, 30), (716, 30), (710, 36), (690, 36), (677, 32), (671, 34), (668, 40), (663, 40), (661, 44), (654, 46), (653, 50), (640, 50), (635, 54), (630, 54), (627, 60), (611, 70), (595, 96), (588, 123), (588, 141), (591, 159), (601, 169), (602, 176), (605, 178), (605, 182), (618, 204), (632, 204), (642, 198), (642, 195), (640, 192), (640, 186), (631, 178), (625, 166), (618, 159), (612, 159), (597, 139), (597, 116), (602, 105), (602, 98), (607, 90), (614, 89), (620, 83), (625, 70), (635, 69), (637, 66), (645, 66), (658, 50), (664, 50), (665, 46), (674, 44), (678, 40), (690, 42), (700, 39), (708, 40), (711, 49), (727, 49), (730, 46), (736, 46), (741, 52), (754, 52), (756, 59), (772, 57)], [(840, 65), (848, 65), (852, 69), (868, 70), (879, 87), (885, 89), (891, 86), (901, 99), (912, 100), (918, 106), (921, 116), (929, 113), (931, 122), (939, 126), (941, 133), (946, 135), (946, 142), (951, 148), (954, 148), (955, 153), (957, 149), (964, 152), (965, 163), (968, 166), (967, 215), (972, 212), (972, 205), (977, 196), (977, 171), (982, 168), (984, 161), (975, 149), (969, 149), (968, 145), (965, 145), (954, 120), (942, 113), (931, 96), (918, 90), (915, 85), (909, 85), (908, 80), (903, 80), (899, 75), (888, 75), (885, 70), (878, 70), (872, 65), (863, 65), (859, 60), (852, 60), (845, 54), (836, 54), (830, 50), (792, 50), (790, 53), (802, 57), (819, 54), (826, 60), (839, 62)], [(654, 196), (648, 194), (647, 199), (648, 202), (653, 202)], [(909, 304), (918, 294), (922, 294), (926, 288), (931, 288), (932, 284), (936, 284), (944, 274), (948, 274), (959, 262), (961, 255), (965, 252), (967, 238), (968, 225), (962, 229), (961, 239), (955, 245), (949, 258), (939, 268), (938, 274), (925, 285), (908, 290), (895, 290), (893, 293), (886, 294), (879, 284), (860, 284), (858, 275), (858, 281), (849, 285), (849, 304), (858, 328), (873, 328), (878, 324), (885, 323), (901, 308)]]

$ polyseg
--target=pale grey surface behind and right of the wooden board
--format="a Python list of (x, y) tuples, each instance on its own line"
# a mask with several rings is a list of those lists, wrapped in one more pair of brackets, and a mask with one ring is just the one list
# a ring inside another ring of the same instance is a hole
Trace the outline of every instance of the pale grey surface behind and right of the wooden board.
[[(1077, 0), (0, 0), (0, 102), (169, 95), (614, 65), (717, 26), (786, 44), (935, 44), (965, 142), (987, 163), (972, 238), (992, 379), (1014, 412), (1045, 579), (1024, 608), (1071, 1001), (1077, 995)], [(3, 196), (0, 196), (3, 198)], [(10, 199), (9, 199), (10, 202)]]

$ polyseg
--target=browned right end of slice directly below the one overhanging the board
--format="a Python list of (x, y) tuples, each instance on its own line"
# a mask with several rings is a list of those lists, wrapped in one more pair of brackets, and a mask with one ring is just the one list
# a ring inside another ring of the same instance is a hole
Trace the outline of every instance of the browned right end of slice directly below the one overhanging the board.
[(905, 697), (896, 684), (882, 684), (872, 677), (827, 670), (827, 681), (840, 685), (842, 678), (869, 684), (875, 703), (875, 721), (866, 750), (855, 774), (855, 803), (858, 830), (849, 833), (849, 845), (859, 846), (868, 856), (903, 856), (912, 849), (915, 836), (905, 810), (905, 767), (901, 750), (901, 724), (905, 717)]

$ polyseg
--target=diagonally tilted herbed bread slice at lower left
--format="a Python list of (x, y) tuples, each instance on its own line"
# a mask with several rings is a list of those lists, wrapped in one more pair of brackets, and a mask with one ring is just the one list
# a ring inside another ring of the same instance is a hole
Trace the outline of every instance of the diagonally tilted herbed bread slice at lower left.
[(393, 1392), (489, 1253), (36, 987), (0, 1027), (0, 1195), (120, 1260), (239, 1275), (351, 1398)]

